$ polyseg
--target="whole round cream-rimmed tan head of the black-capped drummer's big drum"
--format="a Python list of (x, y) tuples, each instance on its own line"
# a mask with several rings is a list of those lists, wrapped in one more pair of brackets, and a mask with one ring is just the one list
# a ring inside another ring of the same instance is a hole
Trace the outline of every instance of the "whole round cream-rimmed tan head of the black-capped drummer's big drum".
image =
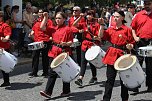
[(127, 70), (131, 68), (136, 63), (136, 61), (136, 56), (126, 54), (116, 60), (116, 62), (114, 63), (114, 68), (116, 70)]

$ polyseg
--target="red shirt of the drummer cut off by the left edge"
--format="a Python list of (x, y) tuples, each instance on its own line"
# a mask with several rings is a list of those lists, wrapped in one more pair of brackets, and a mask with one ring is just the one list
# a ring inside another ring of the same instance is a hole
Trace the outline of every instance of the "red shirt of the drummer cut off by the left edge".
[[(11, 36), (12, 32), (11, 32), (11, 27), (4, 23), (4, 22), (0, 22), (0, 37), (5, 37), (5, 36)], [(0, 40), (0, 48), (4, 48), (4, 49), (9, 49), (10, 47), (10, 43), (9, 42), (2, 42)]]

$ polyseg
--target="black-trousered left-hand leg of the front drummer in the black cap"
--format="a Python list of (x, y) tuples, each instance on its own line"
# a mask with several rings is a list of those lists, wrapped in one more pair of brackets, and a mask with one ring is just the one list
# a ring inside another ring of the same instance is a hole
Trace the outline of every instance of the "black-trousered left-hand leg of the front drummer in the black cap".
[(112, 95), (112, 89), (114, 86), (115, 78), (116, 78), (117, 71), (114, 69), (112, 65), (107, 65), (107, 81), (105, 85), (105, 93), (103, 96), (103, 101), (110, 101)]

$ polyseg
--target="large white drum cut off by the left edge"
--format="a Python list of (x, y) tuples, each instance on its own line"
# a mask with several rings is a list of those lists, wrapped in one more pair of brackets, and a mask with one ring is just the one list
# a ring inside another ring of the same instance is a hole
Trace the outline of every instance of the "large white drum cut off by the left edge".
[(0, 60), (0, 69), (6, 73), (13, 71), (15, 65), (17, 64), (17, 58), (2, 49), (0, 49)]

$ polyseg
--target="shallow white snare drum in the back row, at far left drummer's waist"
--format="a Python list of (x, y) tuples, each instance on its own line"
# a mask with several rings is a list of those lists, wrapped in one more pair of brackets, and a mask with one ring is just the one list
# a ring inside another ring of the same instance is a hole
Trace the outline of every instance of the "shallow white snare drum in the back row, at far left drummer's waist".
[(43, 42), (33, 42), (33, 43), (28, 44), (28, 50), (38, 50), (44, 47), (45, 45)]

